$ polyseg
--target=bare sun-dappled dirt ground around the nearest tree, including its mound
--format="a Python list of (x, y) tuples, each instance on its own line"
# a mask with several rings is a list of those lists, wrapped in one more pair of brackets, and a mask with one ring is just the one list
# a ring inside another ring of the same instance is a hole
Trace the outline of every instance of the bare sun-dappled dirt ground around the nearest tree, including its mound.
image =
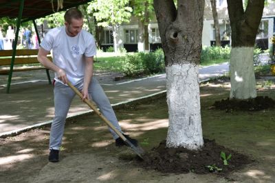
[[(275, 99), (274, 88), (257, 92)], [(205, 143), (200, 151), (165, 147), (168, 108), (159, 98), (115, 110), (122, 129), (140, 142), (149, 161), (138, 161), (128, 147), (115, 147), (106, 125), (87, 114), (67, 120), (58, 163), (47, 161), (50, 127), (1, 138), (0, 182), (274, 182), (274, 109), (217, 110), (213, 103), (228, 97), (230, 84), (209, 82), (200, 90)], [(232, 155), (229, 165), (223, 164), (221, 151)]]

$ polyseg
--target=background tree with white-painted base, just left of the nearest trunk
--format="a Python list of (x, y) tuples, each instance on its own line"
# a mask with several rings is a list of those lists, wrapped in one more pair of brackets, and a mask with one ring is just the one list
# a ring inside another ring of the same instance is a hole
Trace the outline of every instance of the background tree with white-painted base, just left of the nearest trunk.
[(133, 15), (138, 19), (138, 51), (149, 50), (148, 24), (154, 12), (153, 0), (133, 0)]

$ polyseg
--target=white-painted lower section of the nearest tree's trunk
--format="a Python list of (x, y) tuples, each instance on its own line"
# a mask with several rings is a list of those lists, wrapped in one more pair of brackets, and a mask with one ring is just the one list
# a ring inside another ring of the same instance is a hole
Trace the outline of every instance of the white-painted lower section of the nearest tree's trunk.
[(199, 66), (166, 66), (169, 127), (167, 147), (197, 150), (203, 146), (199, 99)]

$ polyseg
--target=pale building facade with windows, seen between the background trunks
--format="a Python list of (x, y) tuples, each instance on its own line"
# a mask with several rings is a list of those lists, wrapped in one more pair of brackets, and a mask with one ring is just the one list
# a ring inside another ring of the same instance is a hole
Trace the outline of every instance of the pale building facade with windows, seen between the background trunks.
[[(270, 38), (275, 32), (274, 20), (275, 20), (275, 2), (272, 0), (267, 1), (263, 12), (263, 19), (259, 26), (259, 34), (256, 36), (256, 45), (261, 49), (269, 49), (272, 45)], [(226, 0), (217, 0), (217, 12), (219, 16), (221, 45), (230, 45), (230, 21), (227, 10)], [(144, 42), (139, 42), (139, 30), (138, 20), (135, 17), (131, 17), (130, 23), (124, 23), (120, 25), (117, 32), (117, 45), (118, 48), (124, 48), (126, 51), (144, 51)], [(212, 10), (210, 0), (206, 0), (204, 10), (203, 21), (203, 34), (202, 45), (212, 46), (215, 45), (214, 36), (214, 21), (212, 17)], [(159, 29), (156, 19), (153, 19), (148, 25), (149, 34), (149, 50), (162, 47), (161, 39), (159, 36)], [(104, 38), (102, 42), (102, 49), (106, 50), (108, 47), (113, 47), (113, 31), (111, 28), (104, 28)]]

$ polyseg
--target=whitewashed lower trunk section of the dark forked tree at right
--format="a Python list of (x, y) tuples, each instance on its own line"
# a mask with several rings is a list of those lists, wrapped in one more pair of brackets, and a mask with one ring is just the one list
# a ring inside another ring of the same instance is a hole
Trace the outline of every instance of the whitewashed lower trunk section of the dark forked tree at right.
[(254, 47), (233, 47), (230, 57), (230, 99), (256, 97), (253, 62)]

